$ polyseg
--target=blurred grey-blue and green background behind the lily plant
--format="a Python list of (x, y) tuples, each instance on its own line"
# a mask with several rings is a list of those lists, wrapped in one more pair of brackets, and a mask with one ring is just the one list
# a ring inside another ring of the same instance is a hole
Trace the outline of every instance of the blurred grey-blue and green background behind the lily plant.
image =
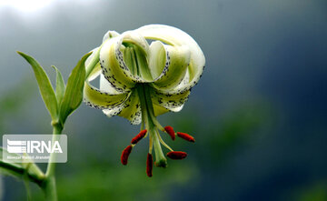
[[(0, 134), (52, 131), (15, 51), (67, 80), (108, 29), (148, 24), (179, 27), (203, 49), (206, 68), (182, 112), (159, 117), (196, 143), (169, 142), (189, 156), (148, 178), (146, 140), (120, 164), (139, 127), (82, 105), (64, 128), (60, 200), (327, 200), (325, 0), (0, 0)], [(0, 184), (0, 200), (25, 200), (21, 180)], [(34, 184), (31, 193), (42, 200)]]

